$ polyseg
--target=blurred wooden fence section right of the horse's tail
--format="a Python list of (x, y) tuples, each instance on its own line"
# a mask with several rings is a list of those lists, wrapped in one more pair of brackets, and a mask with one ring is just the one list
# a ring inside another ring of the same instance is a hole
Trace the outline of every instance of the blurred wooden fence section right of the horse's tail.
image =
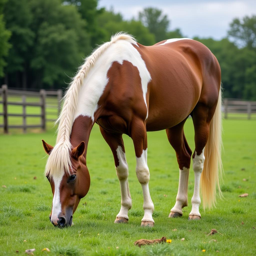
[(228, 118), (228, 113), (244, 113), (247, 119), (251, 119), (251, 115), (256, 113), (256, 101), (243, 101), (237, 99), (223, 99), (224, 118)]

